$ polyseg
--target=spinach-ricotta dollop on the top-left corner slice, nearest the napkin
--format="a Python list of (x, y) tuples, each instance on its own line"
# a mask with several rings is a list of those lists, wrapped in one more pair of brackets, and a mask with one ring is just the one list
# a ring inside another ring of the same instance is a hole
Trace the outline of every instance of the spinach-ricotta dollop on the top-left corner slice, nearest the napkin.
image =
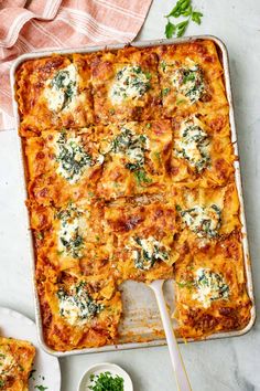
[(78, 73), (71, 64), (55, 73), (45, 83), (44, 97), (53, 112), (66, 112), (75, 105), (78, 88)]

